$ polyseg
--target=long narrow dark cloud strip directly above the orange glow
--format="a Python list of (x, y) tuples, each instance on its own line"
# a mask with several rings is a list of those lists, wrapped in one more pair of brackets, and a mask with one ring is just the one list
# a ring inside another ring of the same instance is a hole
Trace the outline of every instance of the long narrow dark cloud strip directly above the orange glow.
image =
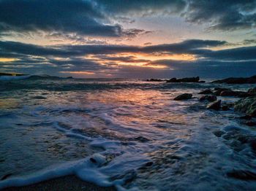
[(62, 46), (39, 46), (34, 44), (24, 44), (21, 42), (0, 41), (1, 52), (15, 53), (23, 55), (39, 56), (83, 56), (88, 54), (114, 54), (121, 52), (170, 52), (170, 53), (191, 53), (198, 52), (203, 54), (202, 50), (206, 47), (217, 47), (224, 45), (225, 41), (190, 39), (175, 44), (159, 44), (154, 46), (138, 47), (128, 45), (111, 44), (92, 44), (92, 45), (62, 45)]

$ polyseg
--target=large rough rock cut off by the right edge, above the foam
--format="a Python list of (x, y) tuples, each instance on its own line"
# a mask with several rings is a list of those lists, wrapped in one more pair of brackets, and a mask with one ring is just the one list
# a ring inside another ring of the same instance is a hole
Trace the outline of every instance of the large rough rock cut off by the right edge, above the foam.
[(236, 101), (234, 109), (236, 112), (243, 112), (246, 115), (256, 117), (256, 96), (242, 98)]

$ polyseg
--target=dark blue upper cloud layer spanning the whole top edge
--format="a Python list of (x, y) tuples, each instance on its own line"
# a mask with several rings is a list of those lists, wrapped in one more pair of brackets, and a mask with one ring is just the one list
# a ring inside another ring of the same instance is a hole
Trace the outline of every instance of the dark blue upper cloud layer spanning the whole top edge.
[[(86, 36), (136, 36), (143, 29), (124, 30), (116, 20), (131, 17), (181, 15), (190, 23), (207, 24), (210, 30), (255, 28), (256, 1), (203, 0), (1, 0), (0, 34), (11, 31), (75, 33)], [(114, 22), (112, 22), (114, 21)]]

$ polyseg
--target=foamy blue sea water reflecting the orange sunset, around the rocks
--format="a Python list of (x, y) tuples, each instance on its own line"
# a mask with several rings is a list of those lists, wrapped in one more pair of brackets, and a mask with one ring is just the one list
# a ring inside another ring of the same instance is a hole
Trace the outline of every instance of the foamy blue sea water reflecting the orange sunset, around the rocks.
[[(75, 174), (118, 190), (256, 190), (255, 128), (197, 93), (211, 83), (0, 80), (0, 190)], [(252, 85), (225, 85), (247, 90)], [(189, 101), (173, 101), (192, 93)], [(221, 98), (234, 102), (237, 98)]]

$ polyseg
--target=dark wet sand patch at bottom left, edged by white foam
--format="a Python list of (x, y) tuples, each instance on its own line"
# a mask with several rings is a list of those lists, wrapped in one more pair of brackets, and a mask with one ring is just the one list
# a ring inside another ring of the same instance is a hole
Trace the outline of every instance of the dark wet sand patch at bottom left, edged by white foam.
[(75, 175), (61, 176), (59, 178), (48, 179), (35, 184), (22, 187), (7, 187), (3, 191), (63, 191), (63, 190), (83, 190), (83, 191), (116, 191), (115, 187), (99, 187), (91, 182), (85, 182)]

